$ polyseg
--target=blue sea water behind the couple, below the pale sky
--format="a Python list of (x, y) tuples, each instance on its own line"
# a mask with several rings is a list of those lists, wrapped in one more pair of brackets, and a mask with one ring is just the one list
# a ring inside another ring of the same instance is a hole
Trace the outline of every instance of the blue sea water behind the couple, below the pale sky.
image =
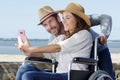
[[(32, 46), (44, 46), (48, 44), (48, 39), (29, 39)], [(15, 46), (17, 39), (0, 38), (0, 54), (22, 55), (22, 52)], [(108, 40), (108, 47), (112, 54), (120, 54), (120, 40)]]

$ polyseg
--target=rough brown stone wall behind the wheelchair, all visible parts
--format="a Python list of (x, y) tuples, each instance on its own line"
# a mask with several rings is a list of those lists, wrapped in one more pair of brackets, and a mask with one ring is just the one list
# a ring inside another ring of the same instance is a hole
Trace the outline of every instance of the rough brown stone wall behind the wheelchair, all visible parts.
[[(15, 75), (20, 62), (1, 62), (0, 63), (0, 80), (15, 80)], [(41, 69), (51, 68), (49, 65), (33, 64)], [(120, 64), (113, 63), (113, 70), (115, 72), (116, 80), (120, 80)]]

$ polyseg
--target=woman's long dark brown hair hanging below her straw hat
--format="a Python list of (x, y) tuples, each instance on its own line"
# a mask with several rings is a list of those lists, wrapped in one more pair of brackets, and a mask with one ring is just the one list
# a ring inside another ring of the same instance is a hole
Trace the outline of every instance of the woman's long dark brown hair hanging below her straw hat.
[(69, 32), (66, 32), (66, 38), (71, 37), (74, 33), (77, 33), (80, 30), (88, 30), (89, 31), (89, 25), (86, 24), (86, 22), (80, 18), (79, 16), (77, 16), (76, 14), (72, 13), (72, 15), (75, 17), (76, 21), (77, 21), (77, 25), (76, 25), (76, 29), (75, 31), (70, 34)]

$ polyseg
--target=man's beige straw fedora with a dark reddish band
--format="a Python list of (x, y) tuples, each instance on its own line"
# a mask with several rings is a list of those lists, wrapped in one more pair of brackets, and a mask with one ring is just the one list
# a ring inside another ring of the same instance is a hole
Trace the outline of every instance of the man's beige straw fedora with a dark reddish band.
[(44, 6), (42, 8), (39, 9), (38, 15), (40, 18), (40, 23), (38, 25), (41, 25), (41, 23), (47, 19), (48, 17), (50, 17), (53, 14), (57, 14), (56, 12), (54, 12), (54, 10), (50, 7), (50, 6)]

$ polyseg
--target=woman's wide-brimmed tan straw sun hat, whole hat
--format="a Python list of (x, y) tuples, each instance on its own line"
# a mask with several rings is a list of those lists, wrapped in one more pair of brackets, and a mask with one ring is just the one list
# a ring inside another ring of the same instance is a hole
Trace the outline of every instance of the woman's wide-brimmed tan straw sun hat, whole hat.
[(84, 8), (80, 4), (71, 2), (67, 5), (65, 10), (58, 10), (56, 12), (63, 13), (64, 11), (76, 14), (77, 16), (82, 18), (86, 22), (87, 25), (89, 26), (91, 25), (89, 18), (87, 17), (87, 15), (85, 15)]

